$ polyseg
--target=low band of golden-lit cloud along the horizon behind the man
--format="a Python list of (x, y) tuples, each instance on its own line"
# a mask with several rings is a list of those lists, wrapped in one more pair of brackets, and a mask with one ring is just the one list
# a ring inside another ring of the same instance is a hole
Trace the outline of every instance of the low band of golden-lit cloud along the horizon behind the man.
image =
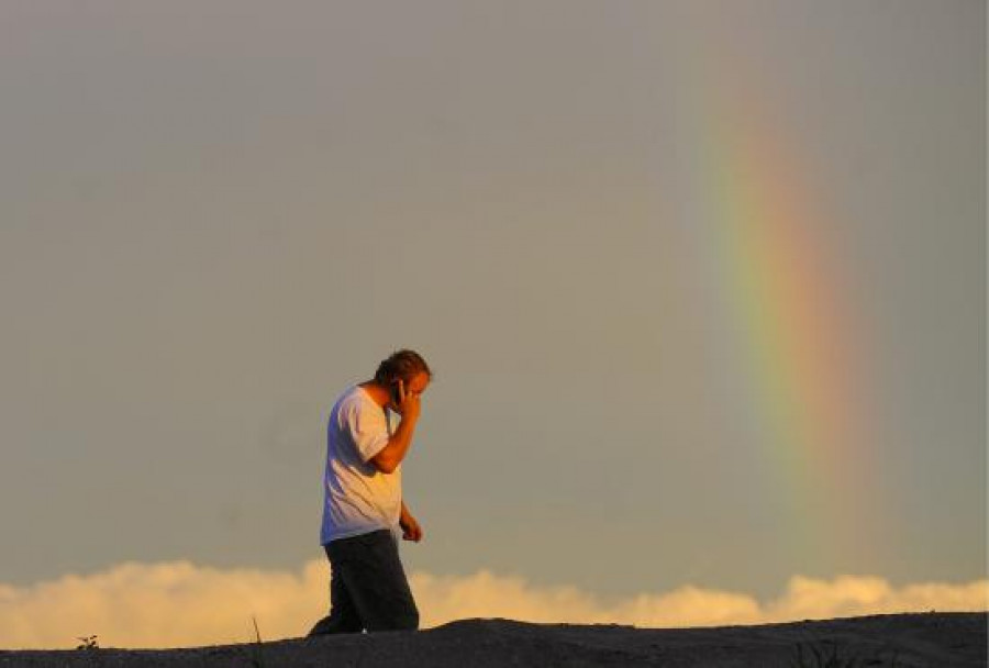
[[(329, 576), (322, 560), (298, 572), (126, 563), (27, 587), (0, 584), (0, 647), (67, 648), (92, 634), (103, 647), (244, 643), (253, 639), (252, 615), (264, 639), (298, 637), (326, 613)], [(989, 609), (989, 580), (896, 588), (879, 577), (793, 576), (781, 597), (764, 603), (697, 586), (605, 603), (575, 587), (541, 587), (488, 570), (416, 571), (410, 583), (424, 628), (468, 617), (675, 627)]]

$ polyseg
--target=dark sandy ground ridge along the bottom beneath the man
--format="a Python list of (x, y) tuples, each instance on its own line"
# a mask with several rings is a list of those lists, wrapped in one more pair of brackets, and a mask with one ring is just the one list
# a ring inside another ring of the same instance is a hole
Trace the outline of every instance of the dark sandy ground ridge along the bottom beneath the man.
[[(635, 628), (463, 620), (418, 632), (182, 649), (2, 650), (0, 667), (986, 666), (985, 612), (912, 613), (757, 626)], [(802, 659), (801, 659), (802, 655)], [(837, 661), (827, 663), (836, 656)], [(854, 659), (854, 660), (853, 660)]]

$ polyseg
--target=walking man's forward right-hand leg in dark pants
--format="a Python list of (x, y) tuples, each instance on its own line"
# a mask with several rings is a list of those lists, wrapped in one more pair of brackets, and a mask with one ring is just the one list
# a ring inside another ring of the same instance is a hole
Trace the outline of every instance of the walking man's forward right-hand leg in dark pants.
[[(334, 543), (327, 550), (334, 553), (334, 564), (342, 561), (340, 574), (364, 627), (368, 632), (419, 628), (419, 610), (391, 531), (347, 538), (338, 546)], [(337, 552), (342, 559), (335, 558)]]

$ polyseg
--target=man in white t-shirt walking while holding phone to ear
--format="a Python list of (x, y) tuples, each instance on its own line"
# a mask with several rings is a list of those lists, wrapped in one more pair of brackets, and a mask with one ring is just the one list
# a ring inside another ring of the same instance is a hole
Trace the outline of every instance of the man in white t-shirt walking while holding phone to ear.
[[(401, 463), (432, 377), (418, 353), (399, 350), (330, 411), (320, 542), (332, 570), (331, 610), (309, 635), (419, 628), (397, 528), (405, 541), (422, 539), (402, 501)], [(389, 410), (401, 415), (393, 433)]]

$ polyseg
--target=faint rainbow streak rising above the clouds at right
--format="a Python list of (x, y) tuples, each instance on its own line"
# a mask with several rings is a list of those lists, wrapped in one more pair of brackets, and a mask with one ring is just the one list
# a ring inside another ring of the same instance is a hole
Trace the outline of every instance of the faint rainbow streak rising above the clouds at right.
[(798, 556), (847, 564), (879, 535), (864, 496), (875, 467), (859, 414), (868, 358), (852, 345), (860, 319), (808, 168), (764, 102), (780, 97), (745, 76), (757, 70), (740, 56), (710, 70), (729, 76), (692, 71), (697, 92), (681, 101), (696, 138), (687, 179), (702, 202), (685, 225), (703, 289), (720, 304), (719, 344), (745, 379), (747, 424), (780, 489), (780, 535)]

